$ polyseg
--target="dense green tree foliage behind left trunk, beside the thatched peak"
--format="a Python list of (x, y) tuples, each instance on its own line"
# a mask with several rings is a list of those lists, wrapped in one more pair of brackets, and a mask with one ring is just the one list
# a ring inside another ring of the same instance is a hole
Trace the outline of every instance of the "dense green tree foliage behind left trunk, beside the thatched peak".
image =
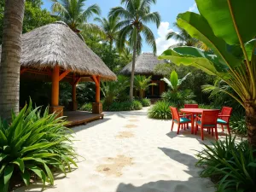
[[(41, 9), (41, 0), (33, 1), (26, 0), (25, 13), (23, 20), (23, 33), (30, 32), (39, 26), (52, 23), (56, 18), (49, 14), (46, 9)], [(2, 33), (3, 33), (3, 10), (4, 1), (0, 3), (0, 44), (2, 44)]]

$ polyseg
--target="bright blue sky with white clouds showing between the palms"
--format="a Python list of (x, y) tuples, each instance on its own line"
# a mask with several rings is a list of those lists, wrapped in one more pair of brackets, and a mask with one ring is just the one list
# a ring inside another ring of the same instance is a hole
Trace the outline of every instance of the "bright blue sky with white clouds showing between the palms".
[[(43, 0), (43, 8), (49, 9), (52, 2), (50, 0)], [(86, 6), (97, 3), (102, 9), (102, 17), (108, 16), (108, 11), (116, 6), (120, 5), (120, 0), (87, 0)], [(148, 25), (154, 32), (154, 37), (157, 44), (158, 55), (160, 55), (170, 45), (175, 44), (174, 40), (166, 41), (166, 33), (171, 30), (176, 31), (172, 24), (175, 22), (176, 17), (179, 13), (185, 11), (197, 12), (195, 0), (158, 0), (155, 5), (152, 6), (151, 11), (158, 11), (161, 15), (161, 24), (157, 29), (154, 25)], [(152, 49), (147, 45), (143, 44), (143, 52), (151, 52)]]

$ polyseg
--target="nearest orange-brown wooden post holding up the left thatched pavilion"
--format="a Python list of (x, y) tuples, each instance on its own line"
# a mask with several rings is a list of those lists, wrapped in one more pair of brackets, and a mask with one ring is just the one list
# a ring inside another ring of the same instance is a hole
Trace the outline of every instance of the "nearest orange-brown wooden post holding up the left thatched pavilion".
[(52, 85), (51, 85), (51, 105), (53, 107), (59, 106), (59, 76), (60, 66), (56, 65), (52, 72)]

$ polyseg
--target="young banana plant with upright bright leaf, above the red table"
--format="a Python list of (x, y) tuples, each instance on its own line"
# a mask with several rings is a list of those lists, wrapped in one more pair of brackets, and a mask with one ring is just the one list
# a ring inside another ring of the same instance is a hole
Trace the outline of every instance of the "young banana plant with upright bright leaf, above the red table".
[(186, 80), (188, 78), (188, 76), (190, 74), (191, 73), (186, 74), (183, 77), (183, 79), (178, 79), (177, 72), (172, 71), (172, 73), (170, 75), (170, 79), (163, 78), (161, 80), (165, 81), (166, 84), (168, 84), (168, 86), (171, 88), (172, 92), (176, 93), (178, 88), (180, 87), (180, 85), (183, 83), (184, 80)]

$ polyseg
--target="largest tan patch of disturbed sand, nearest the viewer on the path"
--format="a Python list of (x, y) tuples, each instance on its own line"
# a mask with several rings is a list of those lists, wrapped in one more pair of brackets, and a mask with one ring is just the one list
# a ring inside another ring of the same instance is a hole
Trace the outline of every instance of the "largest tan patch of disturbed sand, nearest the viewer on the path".
[(125, 166), (132, 165), (132, 158), (126, 157), (125, 155), (118, 155), (115, 158), (109, 157), (106, 159), (106, 164), (97, 166), (97, 172), (102, 172), (107, 176), (120, 177), (123, 173), (121, 172)]

